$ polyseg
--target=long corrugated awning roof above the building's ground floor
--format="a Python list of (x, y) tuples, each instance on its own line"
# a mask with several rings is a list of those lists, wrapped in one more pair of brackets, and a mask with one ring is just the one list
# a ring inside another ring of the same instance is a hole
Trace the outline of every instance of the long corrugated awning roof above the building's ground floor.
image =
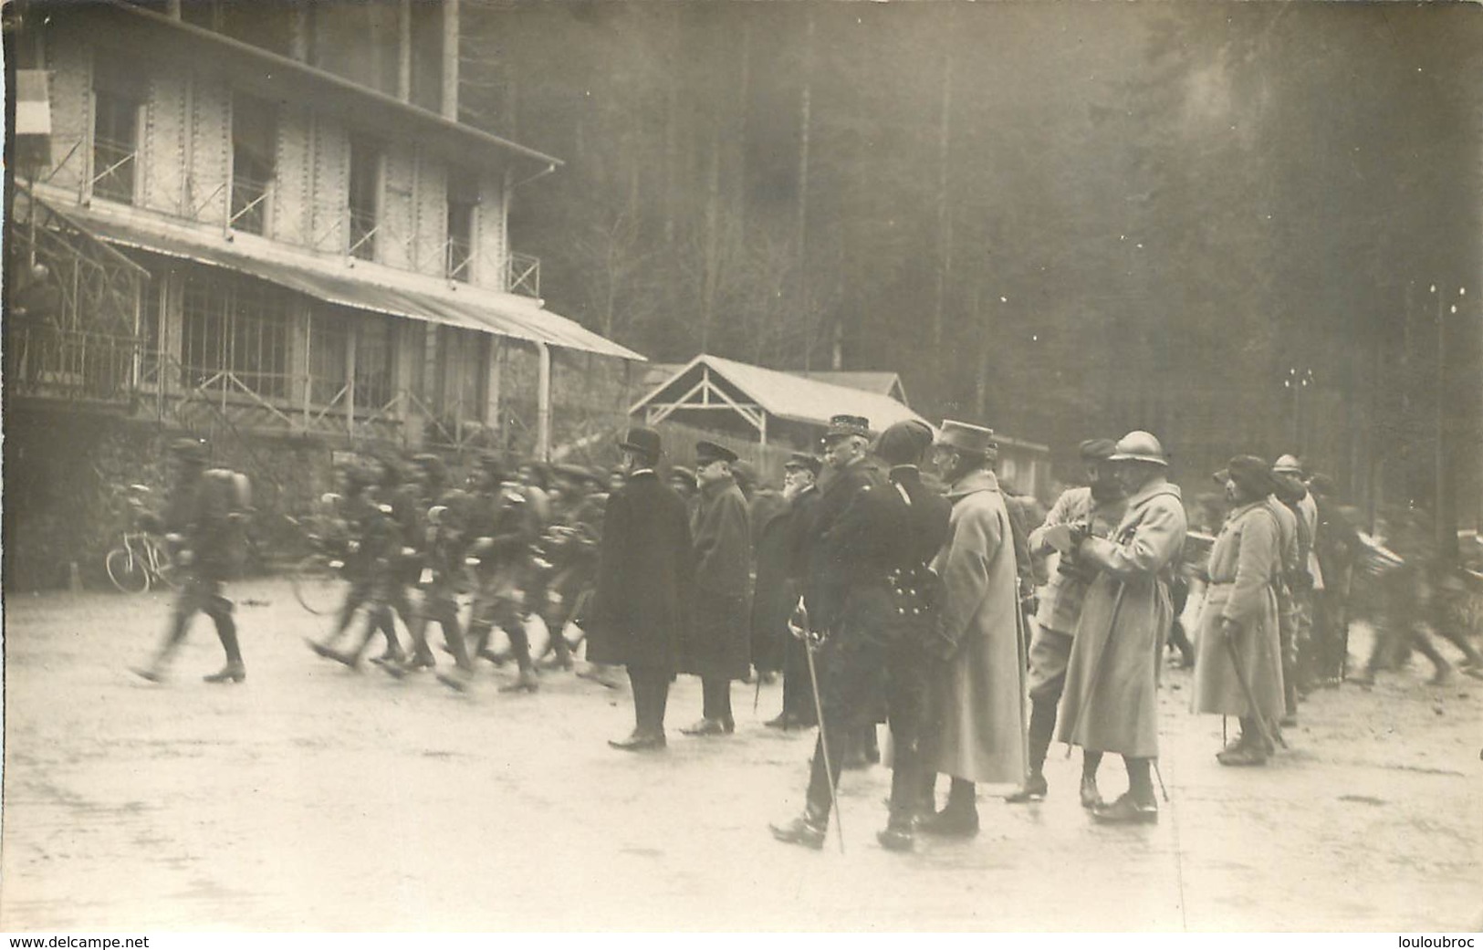
[[(581, 350), (584, 353), (599, 353), (602, 356), (617, 356), (630, 360), (644, 359), (642, 354), (593, 333), (575, 320), (544, 310), (534, 301), (528, 302), (515, 293), (498, 293), (470, 285), (460, 285), (460, 289), (445, 292), (392, 288), (374, 283), (365, 277), (328, 273), (328, 270), (320, 270), (308, 264), (294, 265), (285, 261), (268, 261), (233, 253), (205, 242), (159, 234), (135, 224), (104, 218), (82, 207), (68, 207), (65, 215), (110, 243), (199, 261), (214, 267), (225, 267), (291, 290), (298, 290), (328, 304), (372, 310), (394, 317), (461, 326), (515, 339)], [(365, 268), (365, 271), (371, 270), (369, 267)]]

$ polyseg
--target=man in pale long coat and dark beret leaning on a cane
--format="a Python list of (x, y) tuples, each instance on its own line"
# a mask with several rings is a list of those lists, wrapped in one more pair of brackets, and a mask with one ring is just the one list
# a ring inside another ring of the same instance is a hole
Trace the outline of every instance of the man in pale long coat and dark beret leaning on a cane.
[(1275, 483), (1253, 455), (1237, 455), (1215, 479), (1232, 507), (1210, 551), (1191, 707), (1240, 717), (1241, 735), (1216, 756), (1221, 765), (1262, 765), (1268, 723), (1283, 714), (1281, 529), (1266, 505)]

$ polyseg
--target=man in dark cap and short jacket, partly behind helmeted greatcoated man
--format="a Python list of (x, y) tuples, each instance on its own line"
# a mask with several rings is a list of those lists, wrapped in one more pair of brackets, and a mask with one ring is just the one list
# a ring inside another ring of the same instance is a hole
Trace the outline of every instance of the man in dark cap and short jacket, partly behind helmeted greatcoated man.
[[(1081, 443), (1087, 485), (1062, 492), (1046, 522), (1031, 532), (1032, 557), (1047, 557), (1054, 551), (1047, 534), (1057, 525), (1077, 526), (1097, 538), (1108, 538), (1117, 529), (1123, 520), (1124, 496), (1112, 476), (1114, 465), (1108, 461), (1114, 445), (1111, 439), (1087, 439)], [(1074, 554), (1059, 557), (1056, 575), (1050, 578), (1046, 597), (1040, 602), (1029, 645), (1029, 778), (1005, 797), (1007, 802), (1040, 802), (1048, 790), (1044, 766), (1050, 740), (1056, 734), (1056, 705), (1066, 688), (1066, 662), (1071, 660), (1081, 603), (1094, 578), (1096, 569), (1081, 565)], [(1083, 777), (1081, 803), (1090, 808), (1096, 802), (1096, 780)]]

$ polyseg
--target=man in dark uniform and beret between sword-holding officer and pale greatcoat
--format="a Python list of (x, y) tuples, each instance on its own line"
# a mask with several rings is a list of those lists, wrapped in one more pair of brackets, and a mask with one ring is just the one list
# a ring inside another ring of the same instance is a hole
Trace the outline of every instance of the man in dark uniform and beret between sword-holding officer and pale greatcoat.
[(891, 726), (891, 809), (876, 840), (888, 851), (912, 848), (914, 826), (922, 811), (921, 788), (930, 772), (921, 760), (922, 729), (927, 719), (928, 655), (924, 649), (933, 612), (937, 609), (940, 581), (928, 565), (948, 538), (952, 502), (942, 492), (922, 485), (921, 459), (933, 443), (933, 431), (915, 419), (897, 422), (881, 433), (875, 454), (890, 465), (890, 488), (872, 498), (885, 511), (879, 523), (899, 525), (891, 532), (891, 594), (896, 614), (887, 611), (890, 631), (885, 652), (887, 717)]

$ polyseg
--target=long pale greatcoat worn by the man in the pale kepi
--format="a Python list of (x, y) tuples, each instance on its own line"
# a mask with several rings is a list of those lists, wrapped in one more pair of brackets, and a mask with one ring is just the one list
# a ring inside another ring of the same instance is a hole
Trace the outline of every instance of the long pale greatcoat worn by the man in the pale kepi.
[(992, 471), (948, 489), (948, 541), (933, 560), (943, 581), (939, 633), (958, 645), (931, 677), (925, 763), (974, 783), (1025, 777), (1025, 685), (1010, 514)]

